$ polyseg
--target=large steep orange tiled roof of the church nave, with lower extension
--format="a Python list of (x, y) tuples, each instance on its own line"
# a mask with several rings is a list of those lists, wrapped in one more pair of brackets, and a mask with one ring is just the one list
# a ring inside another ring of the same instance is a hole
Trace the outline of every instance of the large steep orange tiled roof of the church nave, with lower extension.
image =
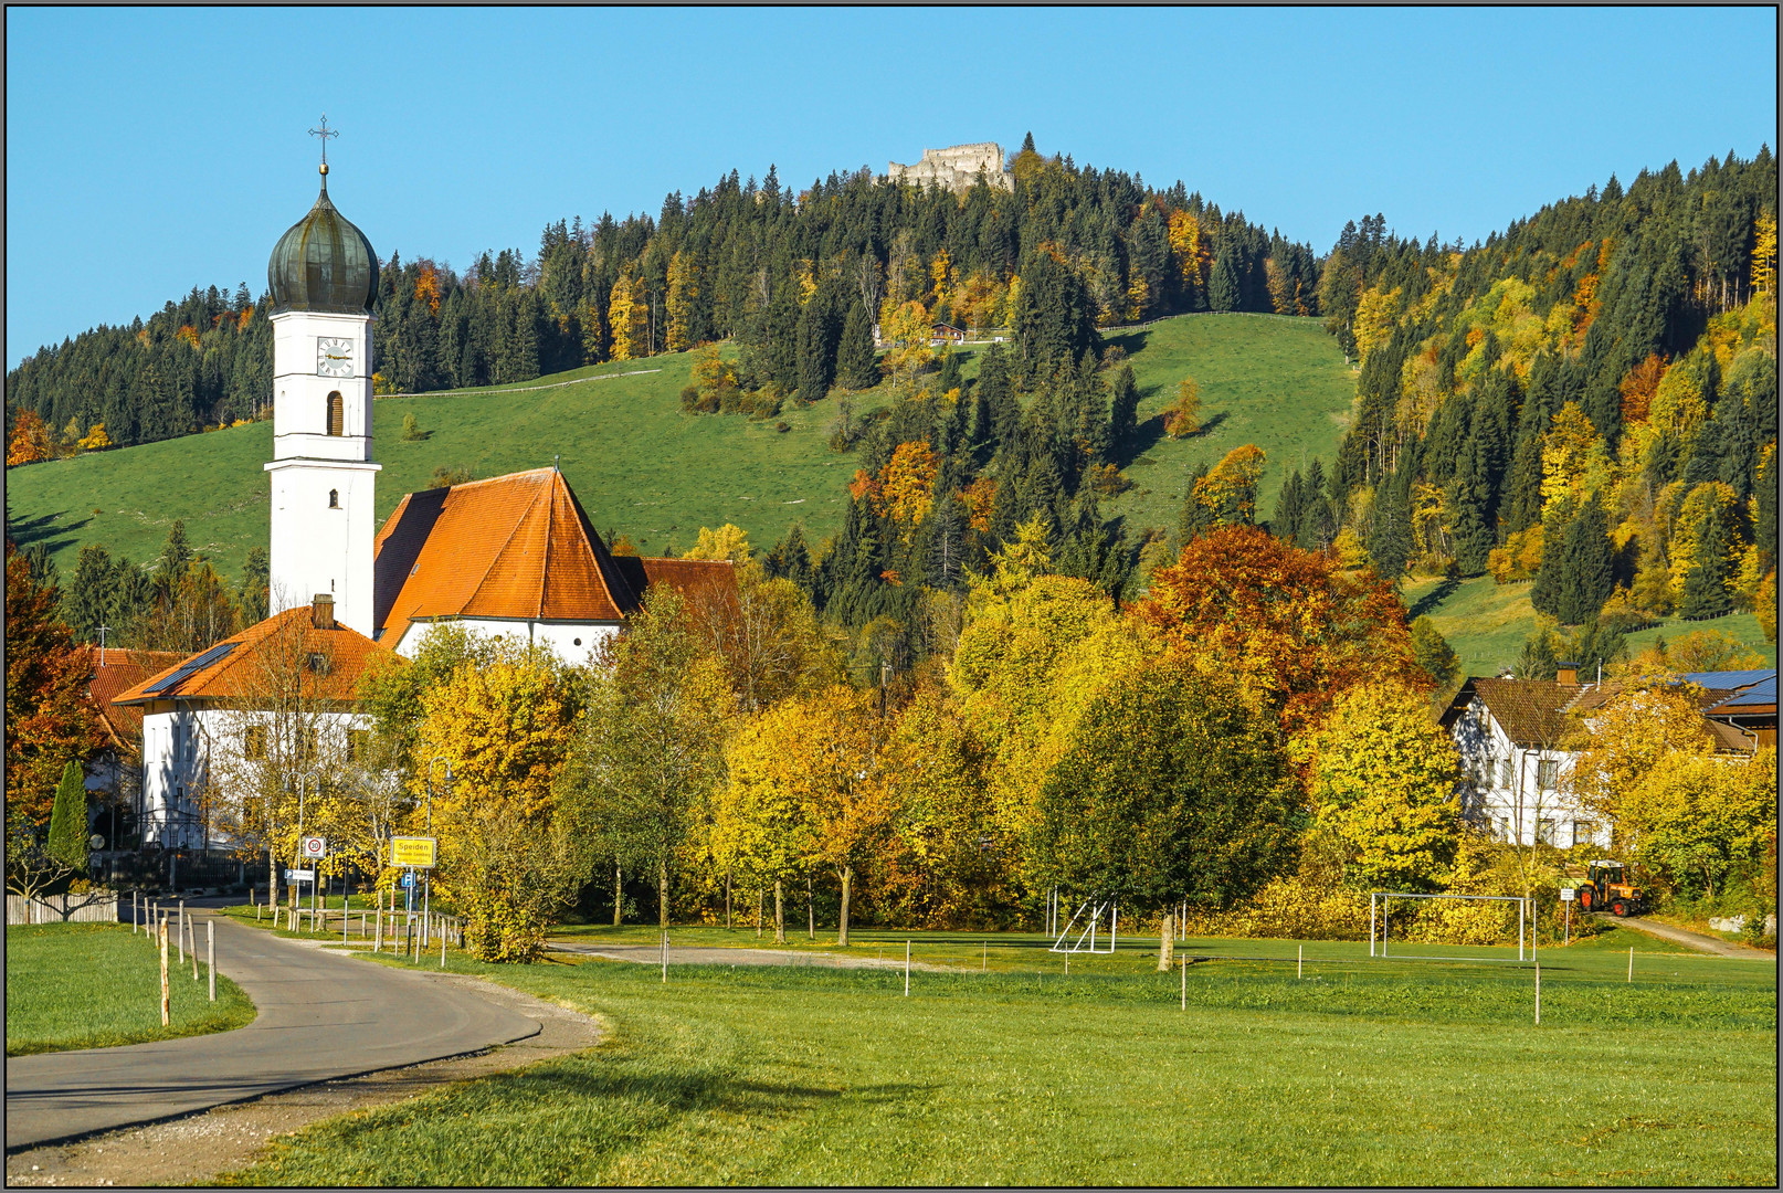
[(654, 583), (736, 592), (724, 560), (613, 556), (556, 469), (412, 492), (374, 549), (373, 621), (390, 647), (415, 621), (622, 622)]

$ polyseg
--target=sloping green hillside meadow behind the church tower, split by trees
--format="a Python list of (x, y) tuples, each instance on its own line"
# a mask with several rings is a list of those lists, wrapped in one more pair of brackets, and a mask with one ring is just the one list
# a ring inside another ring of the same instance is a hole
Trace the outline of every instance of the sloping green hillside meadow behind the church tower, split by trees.
[[(1136, 528), (1173, 528), (1189, 467), (1241, 442), (1269, 453), (1264, 512), (1284, 464), (1335, 453), (1353, 382), (1316, 319), (1184, 316), (1111, 342), (1132, 353), (1145, 391), (1139, 415), (1152, 419), (1141, 437), (1150, 446), (1129, 469), (1138, 487), (1109, 506)], [(965, 362), (968, 374), (975, 351)], [(658, 371), (622, 376), (640, 369)], [(683, 414), (688, 369), (685, 353), (663, 355), (524, 382), (522, 389), (549, 387), (530, 392), (382, 398), (373, 407), (374, 455), (383, 464), (378, 519), (405, 492), (426, 487), (435, 467), (499, 476), (562, 457), (596, 528), (631, 535), (647, 555), (685, 551), (701, 526), (724, 522), (745, 528), (763, 547), (793, 521), (811, 539), (833, 533), (856, 467), (852, 453), (827, 446), (840, 394), (806, 408), (788, 403), (779, 419), (788, 430), (776, 432), (774, 421)], [(1154, 415), (1189, 373), (1202, 383), (1209, 430), (1182, 442), (1157, 439)], [(565, 380), (578, 383), (558, 385)], [(854, 401), (858, 414), (884, 405), (884, 387)], [(419, 419), (426, 439), (401, 439), (405, 414)], [(11, 469), (11, 533), (21, 544), (48, 542), (68, 578), (82, 544), (146, 562), (184, 519), (194, 547), (234, 578), (248, 549), (266, 544), (262, 464), (271, 448), (271, 423), (255, 423)]]

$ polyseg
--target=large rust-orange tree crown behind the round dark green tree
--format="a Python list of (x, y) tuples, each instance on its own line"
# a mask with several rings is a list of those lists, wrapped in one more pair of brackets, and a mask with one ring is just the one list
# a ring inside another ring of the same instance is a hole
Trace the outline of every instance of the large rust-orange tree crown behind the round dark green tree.
[(1134, 615), (1177, 651), (1220, 658), (1282, 712), (1291, 733), (1357, 683), (1428, 690), (1405, 606), (1373, 574), (1302, 551), (1255, 526), (1221, 526), (1152, 572)]

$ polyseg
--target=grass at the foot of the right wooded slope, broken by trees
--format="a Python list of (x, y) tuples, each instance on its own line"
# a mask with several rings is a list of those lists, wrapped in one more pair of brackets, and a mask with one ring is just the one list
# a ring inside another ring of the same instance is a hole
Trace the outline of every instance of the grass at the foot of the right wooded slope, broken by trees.
[[(1405, 605), (1414, 615), (1428, 613), (1437, 631), (1448, 638), (1460, 656), (1462, 674), (1496, 676), (1514, 665), (1523, 642), (1535, 631), (1535, 610), (1530, 606), (1530, 585), (1501, 585), (1491, 576), (1464, 580), (1458, 585), (1442, 580), (1416, 580), (1405, 585)], [(1680, 621), (1669, 617), (1658, 626), (1628, 635), (1630, 653), (1653, 646), (1655, 638), (1674, 638), (1696, 629), (1730, 633), (1767, 665), (1776, 667), (1778, 647), (1765, 642), (1753, 613), (1731, 613), (1713, 621)]]

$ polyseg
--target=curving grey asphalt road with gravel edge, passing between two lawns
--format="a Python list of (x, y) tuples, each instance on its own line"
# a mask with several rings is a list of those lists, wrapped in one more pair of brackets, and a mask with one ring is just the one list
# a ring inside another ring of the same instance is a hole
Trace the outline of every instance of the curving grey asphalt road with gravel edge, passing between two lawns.
[[(203, 913), (198, 918), (201, 938)], [(540, 1031), (538, 1020), (458, 983), (355, 961), (221, 917), (216, 926), (218, 972), (253, 999), (253, 1024), (123, 1049), (9, 1057), (7, 1152), (480, 1052)]]

